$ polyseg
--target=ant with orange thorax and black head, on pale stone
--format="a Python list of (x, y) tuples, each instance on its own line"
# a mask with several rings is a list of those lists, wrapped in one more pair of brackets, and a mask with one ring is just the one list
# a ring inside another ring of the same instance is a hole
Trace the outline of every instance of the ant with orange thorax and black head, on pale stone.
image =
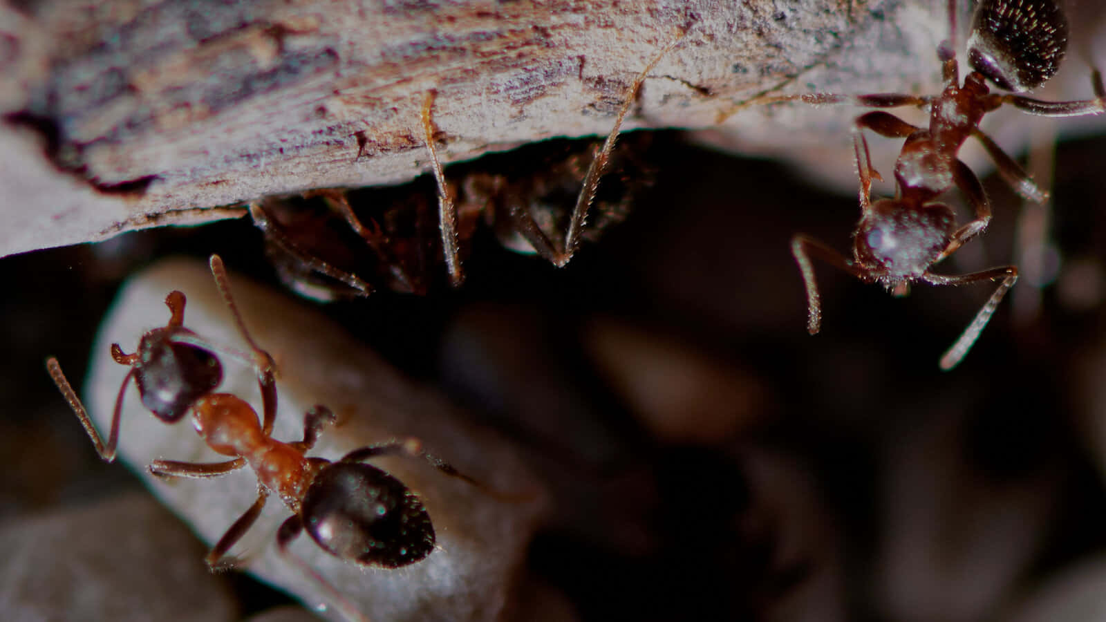
[(275, 364), (246, 330), (231, 298), (222, 260), (212, 255), (210, 267), (223, 302), (253, 349), (261, 384), (262, 421), (244, 400), (230, 393), (215, 393), (222, 379), (217, 349), (184, 326), (186, 299), (179, 291), (166, 297), (170, 311), (168, 324), (145, 333), (137, 352), (123, 354), (118, 344), (112, 344), (112, 357), (131, 370), (119, 388), (106, 444), (54, 357), (46, 360), (50, 375), (88, 433), (96, 452), (108, 463), (115, 458), (123, 395), (132, 377), (138, 385), (143, 404), (163, 422), (175, 423), (190, 412), (196, 431), (207, 445), (232, 459), (220, 463), (158, 459), (149, 465), (150, 474), (159, 478), (210, 478), (250, 466), (258, 477), (257, 501), (211, 547), (205, 558), (208, 567), (222, 571), (239, 563), (238, 558), (228, 556), (228, 551), (261, 515), (269, 495), (275, 494), (292, 511), (276, 531), (280, 554), (325, 593), (343, 615), (349, 620), (365, 620), (322, 574), (288, 549), (301, 532), (306, 531), (331, 554), (363, 566), (399, 568), (430, 554), (435, 531), (421, 499), (400, 480), (365, 460), (389, 455), (420, 458), (446, 475), (481, 489), (486, 487), (422, 450), (421, 444), (413, 438), (361, 447), (336, 462), (306, 457), (323, 427), (335, 423), (334, 414), (322, 405), (306, 412), (302, 440), (283, 443), (272, 438), (276, 412)]

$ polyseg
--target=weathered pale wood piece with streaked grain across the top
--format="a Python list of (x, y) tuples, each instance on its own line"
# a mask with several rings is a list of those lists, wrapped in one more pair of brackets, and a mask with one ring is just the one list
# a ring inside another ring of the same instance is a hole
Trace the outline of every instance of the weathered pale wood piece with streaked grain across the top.
[[(8, 199), (0, 256), (241, 215), (232, 206), (264, 195), (410, 179), (428, 163), (419, 106), (429, 91), (446, 162), (605, 134), (633, 77), (685, 30), (650, 73), (627, 128), (709, 128), (716, 144), (762, 153), (836, 147), (847, 139), (851, 107), (814, 114), (742, 104), (775, 91), (932, 92), (933, 49), (948, 28), (930, 4), (54, 0), (0, 8), (0, 191)], [(1087, 96), (1081, 79), (1072, 93)]]

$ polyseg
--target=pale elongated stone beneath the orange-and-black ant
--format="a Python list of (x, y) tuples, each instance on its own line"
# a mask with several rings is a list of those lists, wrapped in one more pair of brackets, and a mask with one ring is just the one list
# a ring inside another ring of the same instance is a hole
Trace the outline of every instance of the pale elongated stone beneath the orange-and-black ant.
[[(421, 496), (437, 531), (436, 550), (420, 562), (395, 570), (335, 559), (305, 536), (293, 542), (291, 550), (373, 620), (499, 619), (511, 605), (517, 584), (525, 579), (526, 546), (544, 514), (542, 488), (512, 448), (488, 431), (466, 424), (463, 413), (434, 391), (403, 379), (320, 314), (234, 276), (231, 288), (253, 338), (279, 365), (275, 438), (302, 438), (303, 413), (311, 405), (326, 404), (337, 414), (338, 425), (324, 431), (312, 455), (334, 459), (361, 446), (414, 436), (461, 473), (494, 490), (528, 499), (497, 500), (421, 460), (376, 459), (373, 464)], [(111, 360), (108, 345), (119, 343), (131, 351), (144, 330), (163, 325), (168, 319), (165, 296), (174, 289), (188, 297), (186, 326), (213, 343), (247, 350), (206, 267), (166, 261), (133, 278), (102, 325), (85, 392), (90, 411), (105, 433), (127, 371)], [(252, 369), (228, 357), (223, 357), (223, 365), (226, 379), (220, 391), (239, 395), (259, 408)], [(219, 459), (189, 425), (171, 427), (155, 419), (134, 390), (128, 390), (124, 406), (119, 448), (123, 458), (139, 469), (155, 458)], [(257, 498), (255, 479), (249, 469), (207, 480), (161, 483), (144, 469), (143, 477), (208, 542), (222, 536)], [(285, 564), (273, 546), (274, 531), (286, 517), (288, 510), (275, 498), (270, 499), (232, 552), (247, 551), (249, 571), (309, 607), (319, 605), (321, 597), (299, 571)]]

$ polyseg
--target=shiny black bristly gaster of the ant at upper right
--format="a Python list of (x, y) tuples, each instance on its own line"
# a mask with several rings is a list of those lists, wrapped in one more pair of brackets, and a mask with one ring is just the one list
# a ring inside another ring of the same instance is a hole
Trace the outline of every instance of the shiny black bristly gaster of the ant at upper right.
[(984, 0), (968, 37), (971, 68), (1013, 92), (1032, 91), (1060, 69), (1067, 20), (1055, 0)]

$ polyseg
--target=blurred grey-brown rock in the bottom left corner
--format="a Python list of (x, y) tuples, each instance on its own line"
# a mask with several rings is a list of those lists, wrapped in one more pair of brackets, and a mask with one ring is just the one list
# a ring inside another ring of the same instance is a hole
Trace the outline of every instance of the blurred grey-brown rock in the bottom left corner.
[(237, 619), (204, 547), (145, 494), (11, 520), (0, 550), (4, 620)]

